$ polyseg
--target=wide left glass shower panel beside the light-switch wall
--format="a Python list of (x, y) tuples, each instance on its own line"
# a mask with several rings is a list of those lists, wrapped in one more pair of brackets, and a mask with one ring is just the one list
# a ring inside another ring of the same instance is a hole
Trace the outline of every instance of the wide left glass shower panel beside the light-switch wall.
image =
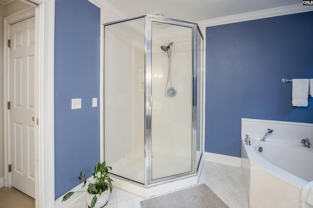
[(144, 18), (107, 25), (104, 156), (111, 173), (144, 184)]

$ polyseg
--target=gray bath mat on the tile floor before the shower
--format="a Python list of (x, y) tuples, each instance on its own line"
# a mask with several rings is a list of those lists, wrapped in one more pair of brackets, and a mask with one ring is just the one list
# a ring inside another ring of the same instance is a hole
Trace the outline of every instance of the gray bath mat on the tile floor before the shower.
[(141, 208), (228, 208), (205, 184), (140, 202)]

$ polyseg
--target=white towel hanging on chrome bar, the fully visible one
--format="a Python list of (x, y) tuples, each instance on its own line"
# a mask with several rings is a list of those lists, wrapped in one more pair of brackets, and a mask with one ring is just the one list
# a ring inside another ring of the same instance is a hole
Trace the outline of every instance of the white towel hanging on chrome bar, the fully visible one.
[(292, 79), (292, 106), (308, 106), (309, 79)]

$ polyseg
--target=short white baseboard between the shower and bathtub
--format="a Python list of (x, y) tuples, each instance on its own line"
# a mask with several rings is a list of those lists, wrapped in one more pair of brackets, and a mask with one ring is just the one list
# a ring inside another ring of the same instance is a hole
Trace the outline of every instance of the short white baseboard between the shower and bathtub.
[(211, 153), (211, 152), (204, 152), (204, 160), (215, 162), (215, 163), (222, 163), (225, 165), (241, 167), (240, 157), (228, 156), (224, 154), (216, 154), (216, 153)]

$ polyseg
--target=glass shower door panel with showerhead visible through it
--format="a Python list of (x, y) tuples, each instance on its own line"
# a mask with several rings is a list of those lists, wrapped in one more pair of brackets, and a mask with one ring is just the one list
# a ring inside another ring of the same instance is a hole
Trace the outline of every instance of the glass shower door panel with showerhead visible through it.
[(152, 21), (152, 180), (193, 170), (192, 32)]

